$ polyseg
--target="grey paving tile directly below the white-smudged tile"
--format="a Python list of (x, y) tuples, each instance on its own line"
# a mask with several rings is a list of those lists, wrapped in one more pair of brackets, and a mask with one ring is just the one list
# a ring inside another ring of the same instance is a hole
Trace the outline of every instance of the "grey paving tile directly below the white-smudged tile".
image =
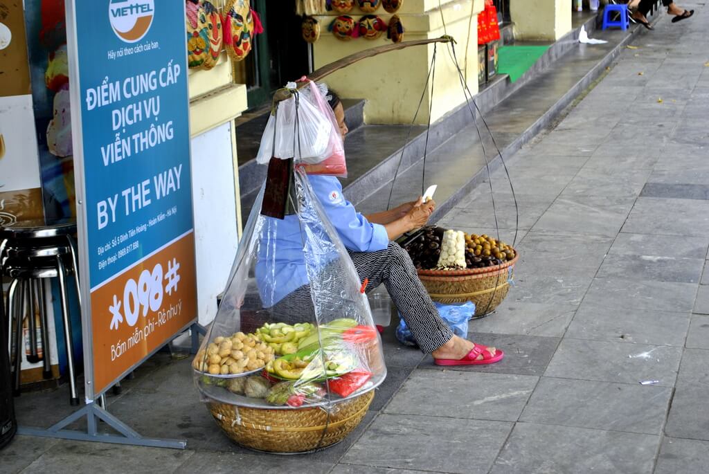
[(672, 389), (542, 377), (522, 422), (661, 434)]

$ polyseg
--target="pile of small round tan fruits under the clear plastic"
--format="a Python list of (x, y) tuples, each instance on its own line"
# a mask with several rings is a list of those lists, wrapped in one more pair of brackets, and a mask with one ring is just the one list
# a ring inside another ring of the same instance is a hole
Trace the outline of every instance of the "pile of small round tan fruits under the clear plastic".
[(192, 367), (213, 376), (238, 375), (261, 368), (273, 359), (274, 349), (255, 334), (236, 332), (230, 337), (214, 338), (197, 353)]

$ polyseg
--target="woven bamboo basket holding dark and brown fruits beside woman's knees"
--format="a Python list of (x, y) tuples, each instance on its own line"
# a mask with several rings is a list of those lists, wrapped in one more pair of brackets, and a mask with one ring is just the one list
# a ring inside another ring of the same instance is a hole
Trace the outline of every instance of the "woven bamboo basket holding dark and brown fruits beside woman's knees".
[(504, 264), (482, 269), (419, 270), (418, 278), (431, 299), (439, 303), (475, 303), (476, 318), (489, 315), (510, 290), (513, 269), (519, 254)]

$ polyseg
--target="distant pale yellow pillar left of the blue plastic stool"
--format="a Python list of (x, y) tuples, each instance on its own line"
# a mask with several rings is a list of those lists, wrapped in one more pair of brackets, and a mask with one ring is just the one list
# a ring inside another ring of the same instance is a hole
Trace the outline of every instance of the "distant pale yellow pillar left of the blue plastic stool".
[(556, 41), (571, 31), (571, 0), (510, 0), (515, 39)]

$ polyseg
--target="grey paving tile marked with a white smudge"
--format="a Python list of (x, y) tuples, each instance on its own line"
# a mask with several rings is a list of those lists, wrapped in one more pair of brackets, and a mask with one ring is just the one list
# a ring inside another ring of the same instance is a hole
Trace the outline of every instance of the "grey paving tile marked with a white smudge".
[(630, 384), (659, 380), (671, 387), (681, 356), (680, 347), (562, 339), (544, 375)]

